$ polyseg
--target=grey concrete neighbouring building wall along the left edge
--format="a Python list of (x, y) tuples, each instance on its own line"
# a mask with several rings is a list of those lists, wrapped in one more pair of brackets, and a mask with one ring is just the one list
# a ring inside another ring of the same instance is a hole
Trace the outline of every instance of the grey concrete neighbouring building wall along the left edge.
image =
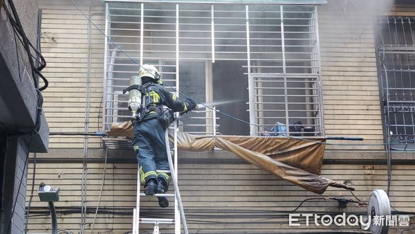
[[(36, 45), (37, 1), (13, 2), (26, 37)], [(10, 9), (8, 3), (4, 7)], [(37, 118), (38, 96), (26, 50), (0, 10), (0, 233), (24, 233), (28, 151), (47, 151), (48, 124), (43, 115)], [(40, 129), (34, 132), (37, 121)]]

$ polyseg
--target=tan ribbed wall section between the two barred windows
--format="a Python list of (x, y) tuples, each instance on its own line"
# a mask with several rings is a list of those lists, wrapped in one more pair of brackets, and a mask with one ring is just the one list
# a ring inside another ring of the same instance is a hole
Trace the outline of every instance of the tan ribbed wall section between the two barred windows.
[[(339, 1), (318, 8), (326, 136), (360, 136), (365, 138), (362, 143), (381, 144), (373, 21), (371, 15), (355, 10), (342, 8)], [(340, 148), (351, 147), (327, 147), (329, 150)], [(382, 150), (383, 147), (358, 149)]]

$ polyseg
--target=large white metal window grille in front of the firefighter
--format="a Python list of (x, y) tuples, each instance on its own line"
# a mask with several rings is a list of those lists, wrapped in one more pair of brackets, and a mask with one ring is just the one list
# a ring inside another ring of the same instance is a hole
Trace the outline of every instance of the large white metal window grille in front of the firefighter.
[[(322, 134), (319, 42), (316, 6), (263, 6), (201, 3), (106, 3), (106, 32), (141, 64), (156, 64), (163, 80), (199, 100), (210, 101), (212, 63), (246, 62), (249, 80), (250, 122), (286, 126), (280, 134)], [(139, 66), (117, 50), (105, 46), (104, 125), (129, 120), (126, 95), (131, 75)], [(200, 66), (199, 73), (186, 70)], [(182, 80), (196, 77), (200, 89)], [(171, 91), (174, 91), (171, 89)], [(219, 116), (218, 116), (219, 117)], [(183, 118), (185, 132), (216, 134), (212, 111)], [(291, 123), (296, 123), (293, 130)], [(291, 130), (290, 130), (291, 129)], [(303, 130), (301, 130), (303, 131)], [(251, 127), (251, 134), (264, 129)]]

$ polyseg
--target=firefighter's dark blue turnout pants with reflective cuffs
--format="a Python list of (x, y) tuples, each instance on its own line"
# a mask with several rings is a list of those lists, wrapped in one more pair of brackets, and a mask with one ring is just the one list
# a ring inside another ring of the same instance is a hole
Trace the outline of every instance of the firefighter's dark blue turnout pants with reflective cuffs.
[(157, 118), (133, 122), (133, 149), (140, 165), (143, 185), (150, 179), (170, 180), (170, 174), (156, 170), (170, 170), (165, 145), (165, 129)]

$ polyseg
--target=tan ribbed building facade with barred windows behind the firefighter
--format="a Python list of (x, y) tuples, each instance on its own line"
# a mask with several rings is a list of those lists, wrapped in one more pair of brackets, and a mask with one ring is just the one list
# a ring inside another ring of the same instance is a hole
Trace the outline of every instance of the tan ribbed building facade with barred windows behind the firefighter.
[[(108, 37), (71, 2), (39, 1), (50, 132), (104, 132), (113, 122), (129, 120), (122, 89), (138, 64), (156, 64), (171, 91), (253, 124), (202, 109), (181, 119), (182, 131), (261, 136), (276, 127), (289, 136), (362, 137), (328, 141), (322, 175), (352, 184), (362, 201), (390, 183), (391, 205), (415, 210), (415, 154), (408, 151), (415, 134), (410, 111), (414, 6), (346, 0), (79, 4)], [(389, 141), (394, 142), (390, 149)], [(50, 137), (49, 147), (48, 154), (37, 156), (35, 184), (61, 188), (59, 228), (131, 231), (137, 170), (129, 141), (59, 135)], [(178, 162), (192, 233), (360, 230), (293, 229), (287, 212), (304, 199), (302, 212), (367, 213), (357, 204), (339, 208), (337, 201), (322, 199), (356, 199), (348, 191), (329, 188), (315, 195), (221, 150), (178, 152)], [(48, 231), (46, 205), (34, 197), (31, 206), (29, 232)], [(146, 197), (142, 215), (172, 217), (174, 210), (162, 210)]]

